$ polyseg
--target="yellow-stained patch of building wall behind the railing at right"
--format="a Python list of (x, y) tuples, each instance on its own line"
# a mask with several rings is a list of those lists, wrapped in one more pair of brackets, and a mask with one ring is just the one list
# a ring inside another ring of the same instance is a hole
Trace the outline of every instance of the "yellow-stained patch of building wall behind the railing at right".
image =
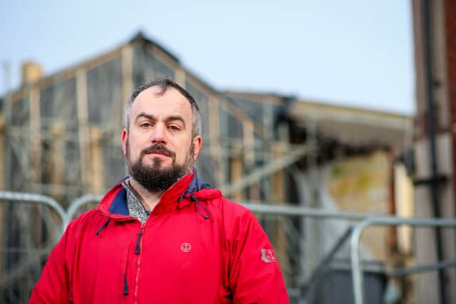
[[(387, 152), (351, 157), (334, 163), (328, 174), (326, 189), (333, 208), (338, 211), (388, 214), (393, 163)], [(369, 227), (362, 243), (372, 258), (385, 260), (389, 255), (388, 227)]]

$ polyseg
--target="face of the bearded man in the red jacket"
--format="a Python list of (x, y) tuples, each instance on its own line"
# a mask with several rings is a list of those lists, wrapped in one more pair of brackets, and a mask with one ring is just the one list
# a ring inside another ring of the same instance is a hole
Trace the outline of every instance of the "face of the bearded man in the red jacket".
[[(150, 177), (152, 184), (160, 176), (175, 179), (176, 174), (178, 178), (189, 173), (201, 147), (201, 137), (192, 138), (190, 102), (175, 88), (167, 88), (162, 95), (158, 92), (159, 87), (151, 87), (138, 95), (131, 106), (130, 130), (122, 133), (130, 175), (137, 180)], [(137, 178), (135, 173), (142, 176)]]

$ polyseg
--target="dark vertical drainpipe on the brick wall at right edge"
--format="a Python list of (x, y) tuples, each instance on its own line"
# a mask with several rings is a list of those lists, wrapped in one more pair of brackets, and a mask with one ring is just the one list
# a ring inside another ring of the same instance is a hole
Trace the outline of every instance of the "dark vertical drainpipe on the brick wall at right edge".
[[(439, 180), (437, 173), (437, 152), (435, 145), (435, 111), (434, 111), (434, 96), (433, 96), (433, 70), (432, 70), (432, 33), (431, 33), (431, 4), (430, 0), (423, 0), (423, 30), (424, 30), (424, 54), (425, 54), (425, 95), (427, 103), (427, 134), (429, 136), (429, 152), (430, 152), (430, 187), (432, 200), (432, 213), (435, 218), (440, 217), (440, 201), (439, 201)], [(435, 227), (435, 241), (437, 244), (437, 260), (443, 261), (442, 249), (442, 231), (440, 227)], [(445, 273), (443, 269), (438, 271), (438, 284), (440, 290), (440, 304), (445, 304)]]

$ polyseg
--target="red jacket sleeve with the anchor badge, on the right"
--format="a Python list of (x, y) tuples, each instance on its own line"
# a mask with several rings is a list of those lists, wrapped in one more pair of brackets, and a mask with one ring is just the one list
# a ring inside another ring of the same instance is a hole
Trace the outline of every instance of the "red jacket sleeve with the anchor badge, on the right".
[(245, 211), (233, 228), (229, 270), (233, 303), (289, 303), (279, 262), (252, 212)]

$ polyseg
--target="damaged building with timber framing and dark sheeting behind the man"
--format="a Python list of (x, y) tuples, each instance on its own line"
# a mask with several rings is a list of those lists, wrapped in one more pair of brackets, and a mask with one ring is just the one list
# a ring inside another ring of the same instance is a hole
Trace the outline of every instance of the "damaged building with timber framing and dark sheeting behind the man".
[[(126, 174), (120, 145), (125, 103), (138, 85), (159, 75), (175, 80), (197, 100), (203, 137), (199, 177), (230, 199), (413, 216), (407, 174), (413, 167), (411, 117), (294, 96), (217, 90), (142, 33), (52, 75), (43, 75), (36, 63), (24, 64), (21, 88), (1, 100), (0, 190), (44, 194), (64, 208), (84, 194), (103, 194)], [(46, 232), (49, 226), (35, 219), (35, 209), (14, 208), (0, 204), (1, 229), (11, 232), (0, 234), (1, 303), (25, 303), (46, 251), (33, 261), (35, 271), (16, 270), (33, 259), (33, 251), (48, 248), (43, 244), (52, 236)], [(306, 292), (303, 286), (319, 269), (321, 256), (353, 224), (299, 216), (258, 218), (295, 300)], [(388, 265), (410, 263), (411, 234), (407, 228), (366, 231), (363, 256), (373, 268), (366, 288), (372, 293), (385, 290)], [(330, 268), (326, 278), (341, 289), (351, 288), (346, 246)], [(324, 293), (328, 282), (314, 286), (314, 292)]]

